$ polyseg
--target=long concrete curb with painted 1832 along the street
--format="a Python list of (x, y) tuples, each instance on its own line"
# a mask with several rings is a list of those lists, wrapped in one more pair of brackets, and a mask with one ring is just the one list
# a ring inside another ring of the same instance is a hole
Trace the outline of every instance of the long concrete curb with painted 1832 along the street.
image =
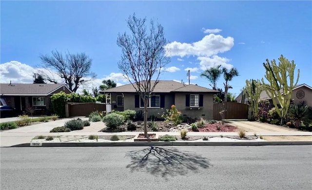
[[(289, 146), (312, 145), (312, 141), (252, 141), (252, 142), (48, 142), (35, 147), (120, 147), (120, 146)], [(23, 143), (11, 147), (34, 147)]]

